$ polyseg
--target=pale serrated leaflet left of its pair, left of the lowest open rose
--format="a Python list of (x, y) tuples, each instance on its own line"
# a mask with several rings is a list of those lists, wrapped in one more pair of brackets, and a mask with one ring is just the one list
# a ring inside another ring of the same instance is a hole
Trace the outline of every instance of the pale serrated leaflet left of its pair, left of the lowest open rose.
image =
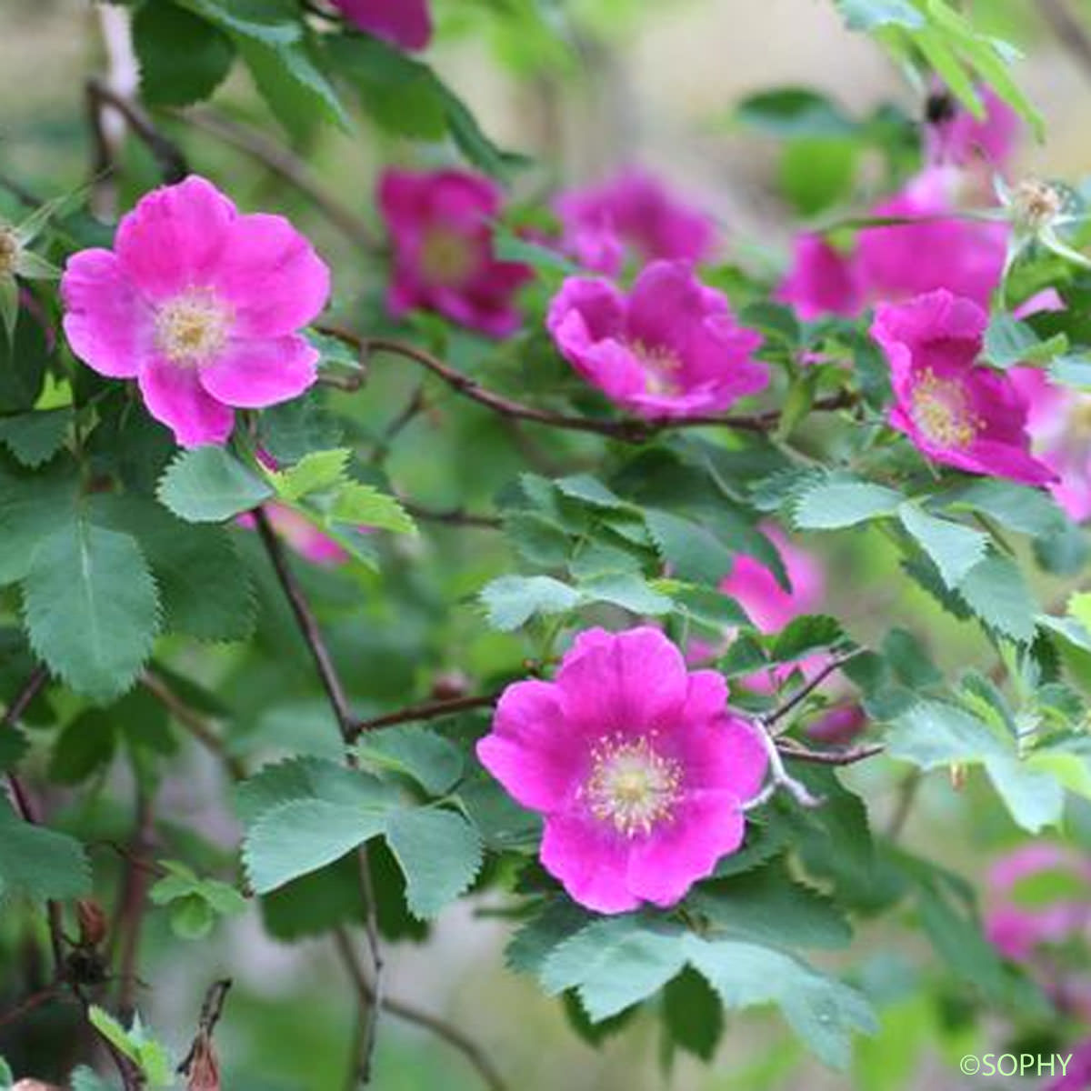
[(242, 847), (250, 885), (267, 894), (339, 860), (381, 834), (385, 813), (325, 800), (293, 800), (265, 812)]

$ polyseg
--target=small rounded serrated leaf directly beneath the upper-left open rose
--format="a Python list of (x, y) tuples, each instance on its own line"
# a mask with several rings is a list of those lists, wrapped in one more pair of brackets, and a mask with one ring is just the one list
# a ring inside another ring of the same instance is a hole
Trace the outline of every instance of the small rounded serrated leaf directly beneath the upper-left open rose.
[(273, 489), (224, 447), (181, 452), (159, 481), (159, 500), (187, 523), (223, 523), (273, 496)]

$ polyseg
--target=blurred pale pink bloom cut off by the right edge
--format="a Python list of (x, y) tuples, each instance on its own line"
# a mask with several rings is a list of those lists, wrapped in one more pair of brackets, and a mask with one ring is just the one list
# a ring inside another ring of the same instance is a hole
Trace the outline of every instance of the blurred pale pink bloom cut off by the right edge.
[(1008, 375), (1027, 399), (1032, 449), (1057, 476), (1050, 485), (1077, 523), (1091, 518), (1091, 396), (1058, 386), (1039, 368), (1012, 368)]

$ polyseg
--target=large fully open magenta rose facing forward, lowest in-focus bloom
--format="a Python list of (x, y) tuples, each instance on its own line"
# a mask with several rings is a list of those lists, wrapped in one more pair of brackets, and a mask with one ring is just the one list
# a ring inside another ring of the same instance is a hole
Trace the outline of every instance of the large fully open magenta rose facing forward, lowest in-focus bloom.
[(658, 630), (589, 630), (555, 682), (504, 691), (478, 756), (546, 816), (541, 862), (576, 901), (672, 906), (739, 849), (765, 777), (762, 740), (727, 696)]

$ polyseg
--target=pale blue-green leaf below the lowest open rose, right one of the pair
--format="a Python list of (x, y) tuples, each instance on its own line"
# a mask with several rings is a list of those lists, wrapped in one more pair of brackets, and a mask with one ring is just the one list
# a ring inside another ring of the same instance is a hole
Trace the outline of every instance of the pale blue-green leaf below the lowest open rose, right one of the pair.
[(692, 936), (691, 961), (728, 1008), (777, 1004), (803, 1043), (834, 1068), (847, 1068), (852, 1036), (878, 1029), (864, 996), (783, 951)]

